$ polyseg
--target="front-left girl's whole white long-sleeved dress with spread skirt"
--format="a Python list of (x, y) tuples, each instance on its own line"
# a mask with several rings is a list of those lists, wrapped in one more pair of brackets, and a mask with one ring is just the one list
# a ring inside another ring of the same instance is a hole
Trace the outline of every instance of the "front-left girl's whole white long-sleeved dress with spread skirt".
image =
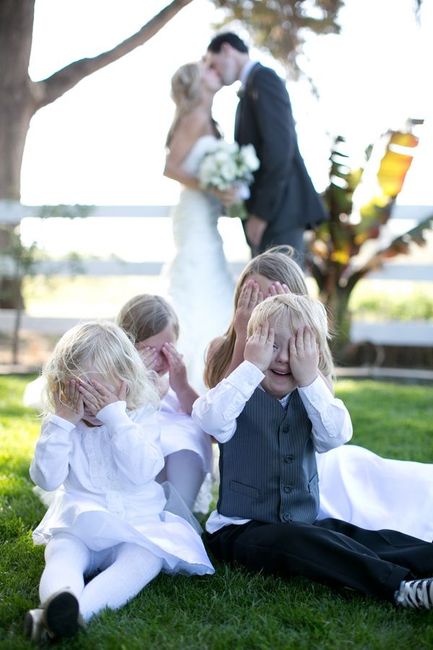
[(164, 464), (156, 414), (126, 413), (125, 403), (115, 402), (98, 417), (103, 426), (74, 426), (57, 416), (44, 422), (30, 475), (56, 493), (34, 542), (47, 544), (57, 533), (95, 551), (130, 542), (161, 558), (168, 573), (214, 573), (200, 535), (164, 510), (164, 489), (154, 480)]

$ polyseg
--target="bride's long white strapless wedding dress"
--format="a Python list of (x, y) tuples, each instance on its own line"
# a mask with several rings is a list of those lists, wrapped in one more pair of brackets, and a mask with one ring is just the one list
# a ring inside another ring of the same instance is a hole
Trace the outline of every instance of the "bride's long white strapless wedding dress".
[[(195, 176), (216, 142), (213, 135), (200, 137), (184, 160), (184, 170)], [(172, 210), (176, 254), (163, 271), (167, 297), (180, 322), (177, 347), (199, 393), (205, 389), (206, 348), (226, 331), (233, 313), (235, 282), (218, 232), (220, 214), (221, 205), (211, 194), (184, 187)]]

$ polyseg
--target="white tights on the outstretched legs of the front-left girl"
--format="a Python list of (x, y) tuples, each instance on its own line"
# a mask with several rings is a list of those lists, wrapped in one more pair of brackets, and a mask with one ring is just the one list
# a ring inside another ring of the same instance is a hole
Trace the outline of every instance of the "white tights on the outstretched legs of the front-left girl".
[[(45, 549), (45, 569), (39, 585), (44, 602), (57, 591), (71, 591), (85, 621), (108, 607), (125, 605), (155, 578), (162, 560), (136, 544), (123, 543), (104, 551), (91, 551), (72, 535), (54, 536)], [(84, 585), (84, 575), (101, 573)]]

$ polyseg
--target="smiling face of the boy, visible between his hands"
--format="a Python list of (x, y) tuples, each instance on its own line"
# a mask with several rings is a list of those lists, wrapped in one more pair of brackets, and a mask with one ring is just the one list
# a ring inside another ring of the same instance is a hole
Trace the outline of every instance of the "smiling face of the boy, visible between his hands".
[(274, 353), (269, 368), (265, 371), (262, 387), (267, 393), (281, 399), (297, 387), (290, 370), (289, 341), (294, 332), (285, 320), (271, 319), (275, 330)]

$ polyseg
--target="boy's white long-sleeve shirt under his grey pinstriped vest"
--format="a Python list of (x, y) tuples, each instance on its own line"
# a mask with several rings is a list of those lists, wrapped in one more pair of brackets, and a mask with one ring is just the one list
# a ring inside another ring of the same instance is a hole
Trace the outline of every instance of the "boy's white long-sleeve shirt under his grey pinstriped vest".
[[(236, 433), (236, 419), (246, 402), (264, 379), (264, 374), (249, 361), (243, 361), (215, 388), (199, 397), (193, 405), (192, 417), (199, 426), (221, 444)], [(298, 387), (299, 396), (312, 424), (314, 449), (323, 453), (343, 445), (352, 437), (352, 421), (343, 402), (334, 397), (319, 375), (309, 386)], [(289, 395), (280, 402), (287, 404)], [(206, 522), (206, 530), (214, 533), (229, 524), (244, 524), (248, 519), (225, 517), (214, 511)]]

